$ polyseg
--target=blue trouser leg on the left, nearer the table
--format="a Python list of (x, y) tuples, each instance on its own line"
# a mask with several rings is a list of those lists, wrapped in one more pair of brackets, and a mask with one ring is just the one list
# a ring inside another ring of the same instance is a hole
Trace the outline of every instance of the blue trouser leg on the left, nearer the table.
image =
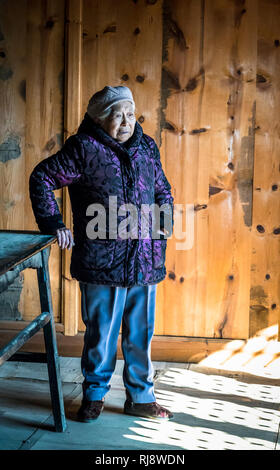
[(82, 353), (83, 395), (101, 400), (117, 358), (117, 342), (126, 299), (126, 288), (80, 283), (82, 318), (86, 325)]

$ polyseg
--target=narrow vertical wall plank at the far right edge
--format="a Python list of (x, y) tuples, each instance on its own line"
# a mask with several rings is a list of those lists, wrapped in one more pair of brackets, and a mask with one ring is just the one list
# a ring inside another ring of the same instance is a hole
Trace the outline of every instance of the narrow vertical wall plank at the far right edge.
[(250, 336), (280, 320), (279, 25), (280, 2), (259, 0)]

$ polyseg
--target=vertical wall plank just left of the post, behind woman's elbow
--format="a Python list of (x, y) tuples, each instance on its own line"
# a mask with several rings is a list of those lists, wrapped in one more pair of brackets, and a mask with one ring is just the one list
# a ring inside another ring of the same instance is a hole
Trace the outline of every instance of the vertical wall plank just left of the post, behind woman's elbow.
[[(40, 160), (55, 153), (62, 144), (63, 133), (63, 73), (64, 73), (64, 1), (28, 0), (26, 76), (24, 84), (25, 114), (25, 211), (24, 226), (38, 230), (29, 199), (28, 181), (32, 169)], [(23, 86), (23, 85), (22, 85)], [(62, 191), (55, 191), (61, 209)], [(61, 253), (52, 246), (50, 276), (55, 321), (61, 319)], [(24, 320), (37, 314), (39, 292), (34, 270), (24, 272)]]

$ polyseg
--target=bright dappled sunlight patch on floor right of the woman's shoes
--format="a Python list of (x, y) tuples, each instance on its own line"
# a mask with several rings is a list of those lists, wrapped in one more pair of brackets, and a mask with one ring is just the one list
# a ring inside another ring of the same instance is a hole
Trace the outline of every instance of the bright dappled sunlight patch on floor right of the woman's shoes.
[(174, 419), (137, 419), (127, 439), (178, 449), (274, 449), (280, 388), (170, 368), (159, 378), (157, 401)]

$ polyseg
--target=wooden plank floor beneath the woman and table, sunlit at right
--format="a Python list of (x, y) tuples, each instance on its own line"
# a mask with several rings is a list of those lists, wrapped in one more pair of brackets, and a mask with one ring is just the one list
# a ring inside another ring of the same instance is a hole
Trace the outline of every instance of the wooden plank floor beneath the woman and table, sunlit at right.
[(82, 397), (80, 359), (61, 357), (68, 428), (55, 433), (46, 364), (0, 368), (0, 449), (11, 450), (280, 450), (280, 380), (202, 364), (154, 362), (157, 400), (174, 419), (126, 416), (123, 361), (105, 409), (92, 424), (76, 420)]

